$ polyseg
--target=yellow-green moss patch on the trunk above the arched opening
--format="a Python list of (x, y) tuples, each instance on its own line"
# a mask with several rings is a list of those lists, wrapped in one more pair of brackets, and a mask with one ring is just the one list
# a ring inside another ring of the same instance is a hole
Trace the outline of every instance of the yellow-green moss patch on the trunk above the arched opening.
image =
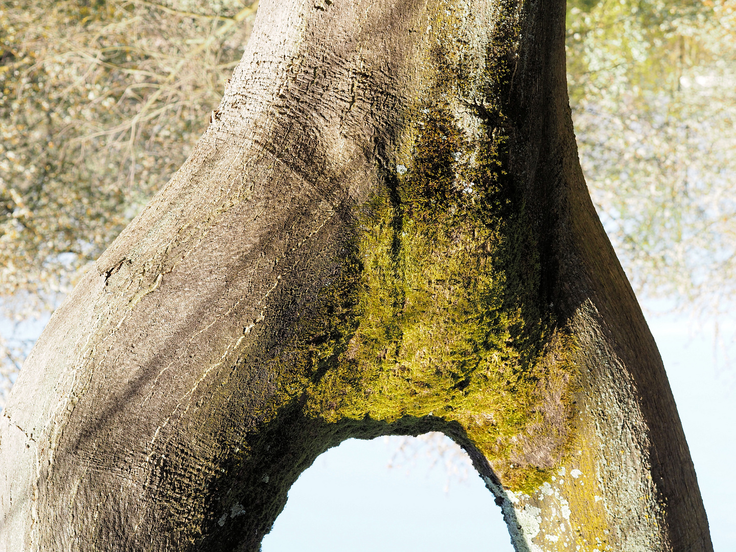
[[(299, 403), (328, 424), (457, 423), (503, 484), (526, 492), (562, 459), (567, 436), (548, 418), (571, 416), (574, 343), (543, 300), (540, 239), (509, 169), (517, 32), (499, 21), (480, 79), (442, 40), (429, 51), (436, 85), (399, 147), (408, 170), (383, 167), (335, 277), (269, 361), (278, 389), (265, 422)], [(477, 132), (453, 114), (458, 91), (483, 98), (463, 100)], [(550, 442), (544, 465), (526, 460)]]

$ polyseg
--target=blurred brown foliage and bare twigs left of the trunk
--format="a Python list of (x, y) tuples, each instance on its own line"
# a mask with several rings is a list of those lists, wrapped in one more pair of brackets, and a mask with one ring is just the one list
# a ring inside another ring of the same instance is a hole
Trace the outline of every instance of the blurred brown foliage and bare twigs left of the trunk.
[(0, 300), (7, 392), (43, 316), (174, 174), (222, 98), (252, 0), (0, 4)]

